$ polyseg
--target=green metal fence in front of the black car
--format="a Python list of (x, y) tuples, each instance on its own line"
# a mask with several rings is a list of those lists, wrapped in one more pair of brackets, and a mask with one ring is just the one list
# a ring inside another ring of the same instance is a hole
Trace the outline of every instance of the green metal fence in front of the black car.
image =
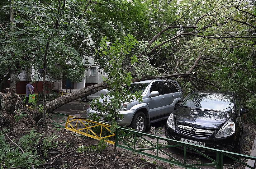
[[(217, 169), (223, 169), (224, 157), (229, 157), (235, 162), (238, 162), (244, 166), (247, 166), (253, 169), (253, 167), (246, 164), (247, 162), (246, 159), (256, 160), (256, 157), (252, 157), (248, 155), (187, 144), (181, 141), (167, 139), (167, 138), (163, 138), (155, 135), (149, 135), (146, 133), (141, 133), (141, 132), (128, 130), (124, 128), (116, 129), (115, 134), (116, 134), (115, 147), (133, 151), (135, 153), (138, 153), (150, 158), (154, 158), (163, 162), (167, 162), (180, 167), (185, 167), (188, 169), (199, 168), (198, 166), (215, 166)], [(149, 141), (148, 137), (156, 139), (156, 142), (152, 143), (151, 141)], [(139, 139), (144, 140), (149, 146), (143, 147), (143, 148), (138, 147), (137, 142)], [(172, 145), (161, 145), (159, 142), (160, 140), (170, 142)], [(173, 155), (168, 153), (167, 148), (171, 148), (171, 147), (177, 147), (177, 148), (183, 149), (183, 160), (177, 159), (173, 157)], [(210, 163), (203, 163), (203, 164), (198, 162), (188, 163), (186, 158), (186, 153), (188, 149), (190, 151), (193, 151), (194, 153), (200, 154), (203, 157), (207, 158), (210, 161)], [(148, 151), (148, 150), (155, 150), (155, 151), (154, 153), (152, 153), (152, 151)], [(202, 152), (202, 151), (205, 151), (205, 152)], [(206, 153), (209, 153), (209, 152), (213, 153), (213, 155), (216, 157), (210, 157), (206, 155)], [(161, 155), (159, 155), (160, 153), (162, 155), (168, 156), (169, 159), (161, 157)], [(244, 159), (246, 162), (244, 162), (240, 158)]]

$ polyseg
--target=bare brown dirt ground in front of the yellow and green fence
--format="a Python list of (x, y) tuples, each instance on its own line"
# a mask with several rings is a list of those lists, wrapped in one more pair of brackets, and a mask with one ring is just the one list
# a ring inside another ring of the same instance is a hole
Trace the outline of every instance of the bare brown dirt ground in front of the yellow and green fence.
[[(42, 130), (38, 128), (37, 130)], [(91, 146), (97, 145), (98, 140), (91, 139), (78, 135), (76, 133), (60, 130), (51, 130), (50, 133), (54, 133), (59, 136), (56, 140), (58, 142), (58, 147), (49, 150), (50, 155), (48, 159), (55, 157), (58, 154), (68, 152), (73, 149), (77, 149), (78, 146)], [(16, 136), (17, 137), (17, 134)], [(67, 146), (68, 145), (68, 146)], [(143, 156), (134, 154), (129, 151), (122, 149), (114, 150), (114, 146), (111, 144), (106, 144), (106, 149), (102, 151), (88, 151), (84, 153), (77, 153), (76, 151), (64, 154), (57, 158), (52, 165), (43, 166), (39, 168), (50, 168), (50, 169), (165, 169), (165, 168), (175, 168), (179, 167), (169, 165), (164, 162), (155, 161), (154, 159), (145, 158)], [(47, 159), (46, 159), (47, 160)]]

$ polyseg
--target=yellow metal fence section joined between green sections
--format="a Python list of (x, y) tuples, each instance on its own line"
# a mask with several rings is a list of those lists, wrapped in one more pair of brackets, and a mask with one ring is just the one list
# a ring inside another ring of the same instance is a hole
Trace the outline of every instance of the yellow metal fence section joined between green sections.
[[(84, 118), (78, 118), (75, 116), (68, 116), (68, 119), (65, 125), (65, 129), (67, 130), (70, 130), (78, 134), (85, 135), (87, 137), (91, 137), (97, 140), (115, 137), (115, 134), (111, 133), (111, 131), (109, 130), (109, 127), (110, 125), (105, 123), (87, 120)], [(115, 142), (111, 140), (105, 140), (105, 141), (109, 144), (115, 144)]]

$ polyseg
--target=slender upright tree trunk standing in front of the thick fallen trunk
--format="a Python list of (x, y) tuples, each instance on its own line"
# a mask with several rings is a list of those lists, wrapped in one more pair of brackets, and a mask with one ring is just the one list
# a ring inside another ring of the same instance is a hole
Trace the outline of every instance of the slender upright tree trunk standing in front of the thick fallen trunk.
[(44, 109), (43, 109), (43, 119), (44, 119), (44, 125), (45, 125), (45, 136), (48, 135), (48, 125), (46, 121), (46, 93), (45, 93), (45, 75), (46, 75), (46, 60), (47, 60), (47, 53), (48, 53), (48, 48), (49, 48), (50, 40), (46, 43), (45, 47), (45, 57), (43, 61), (43, 104), (44, 104)]

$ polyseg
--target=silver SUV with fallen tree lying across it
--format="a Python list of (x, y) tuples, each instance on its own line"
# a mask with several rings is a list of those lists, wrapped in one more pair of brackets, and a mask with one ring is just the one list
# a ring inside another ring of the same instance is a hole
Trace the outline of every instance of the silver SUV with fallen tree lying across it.
[[(145, 80), (131, 83), (130, 92), (143, 91), (142, 102), (134, 100), (124, 103), (120, 109), (122, 119), (117, 119), (120, 126), (130, 126), (144, 132), (151, 123), (168, 119), (177, 103), (183, 100), (183, 93), (177, 81), (174, 80)], [(100, 100), (103, 102), (103, 99)], [(92, 107), (87, 109), (87, 116), (98, 113)]]

